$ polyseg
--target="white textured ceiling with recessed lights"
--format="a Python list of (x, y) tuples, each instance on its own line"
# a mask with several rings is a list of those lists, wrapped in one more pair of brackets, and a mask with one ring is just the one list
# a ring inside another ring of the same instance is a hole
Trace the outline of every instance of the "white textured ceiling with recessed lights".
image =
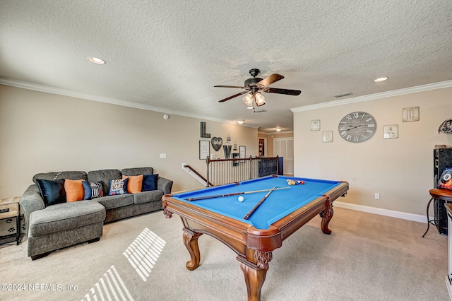
[[(302, 94), (218, 102), (253, 68)], [(0, 78), (291, 130), (290, 108), (452, 80), (452, 1), (2, 0)]]

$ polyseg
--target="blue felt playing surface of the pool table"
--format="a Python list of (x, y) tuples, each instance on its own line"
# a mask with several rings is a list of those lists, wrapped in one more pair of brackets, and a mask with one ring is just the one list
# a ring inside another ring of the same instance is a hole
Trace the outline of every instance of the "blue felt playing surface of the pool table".
[[(304, 181), (302, 185), (289, 185), (287, 179), (297, 179)], [(323, 196), (326, 191), (338, 186), (341, 182), (328, 181), (322, 179), (305, 179), (299, 177), (261, 177), (250, 179), (239, 184), (226, 184), (218, 187), (209, 187), (196, 191), (190, 191), (182, 194), (174, 194), (174, 199), (191, 203), (194, 206), (213, 211), (222, 216), (234, 218), (244, 223), (254, 225), (257, 229), (268, 229), (272, 223), (287, 216), (291, 212), (301, 208), (307, 203), (313, 201), (319, 196)], [(221, 194), (232, 194), (236, 192), (254, 191), (262, 189), (272, 189), (273, 187), (290, 187), (273, 191), (268, 198), (263, 201), (256, 211), (244, 220), (246, 213), (256, 206), (256, 203), (268, 193), (262, 191), (254, 194), (241, 194), (244, 197), (243, 202), (239, 202), (239, 196), (223, 196), (214, 199), (203, 199), (197, 201), (186, 201), (185, 199), (196, 198), (200, 196), (212, 196)]]

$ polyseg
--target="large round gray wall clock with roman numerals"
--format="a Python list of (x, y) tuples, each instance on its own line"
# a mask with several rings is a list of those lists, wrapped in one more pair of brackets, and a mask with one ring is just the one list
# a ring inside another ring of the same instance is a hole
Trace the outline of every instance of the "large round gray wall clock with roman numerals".
[(376, 121), (366, 112), (352, 112), (340, 120), (338, 130), (340, 136), (346, 141), (363, 142), (374, 136)]

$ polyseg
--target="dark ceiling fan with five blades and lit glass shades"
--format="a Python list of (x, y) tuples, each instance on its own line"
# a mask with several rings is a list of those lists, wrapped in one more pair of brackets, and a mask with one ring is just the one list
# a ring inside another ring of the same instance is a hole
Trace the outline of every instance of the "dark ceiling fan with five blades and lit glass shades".
[(267, 93), (278, 93), (278, 94), (285, 94), (285, 95), (299, 95), (302, 93), (300, 90), (290, 90), (290, 89), (280, 89), (280, 88), (268, 88), (268, 85), (275, 83), (275, 81), (279, 81), (280, 79), (283, 79), (284, 76), (280, 74), (271, 74), (267, 78), (258, 78), (256, 77), (258, 73), (261, 72), (259, 69), (251, 69), (249, 71), (249, 74), (253, 76), (253, 78), (248, 78), (243, 87), (238, 85), (214, 85), (214, 87), (220, 87), (220, 88), (240, 88), (245, 89), (243, 92), (237, 93), (235, 95), (232, 95), (228, 98), (225, 98), (224, 100), (219, 100), (219, 102), (225, 102), (226, 100), (230, 100), (232, 98), (236, 98), (239, 95), (245, 95), (243, 98), (243, 101), (248, 107), (254, 107), (254, 102), (256, 102), (256, 105), (260, 107), (261, 105), (266, 104), (266, 100), (263, 97), (263, 95), (259, 92), (262, 90), (263, 92)]

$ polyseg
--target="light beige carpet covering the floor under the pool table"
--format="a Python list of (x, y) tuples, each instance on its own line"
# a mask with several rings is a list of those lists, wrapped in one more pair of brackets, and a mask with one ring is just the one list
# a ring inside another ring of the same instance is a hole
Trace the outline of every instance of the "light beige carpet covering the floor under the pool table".
[[(283, 242), (261, 300), (449, 300), (447, 236), (424, 223), (335, 208)], [(27, 243), (0, 248), (0, 300), (246, 300), (236, 254), (202, 235), (201, 265), (186, 269), (179, 216), (162, 211), (104, 226), (99, 242), (42, 259)], [(143, 259), (143, 260), (139, 260)], [(9, 290), (4, 290), (4, 288)]]

